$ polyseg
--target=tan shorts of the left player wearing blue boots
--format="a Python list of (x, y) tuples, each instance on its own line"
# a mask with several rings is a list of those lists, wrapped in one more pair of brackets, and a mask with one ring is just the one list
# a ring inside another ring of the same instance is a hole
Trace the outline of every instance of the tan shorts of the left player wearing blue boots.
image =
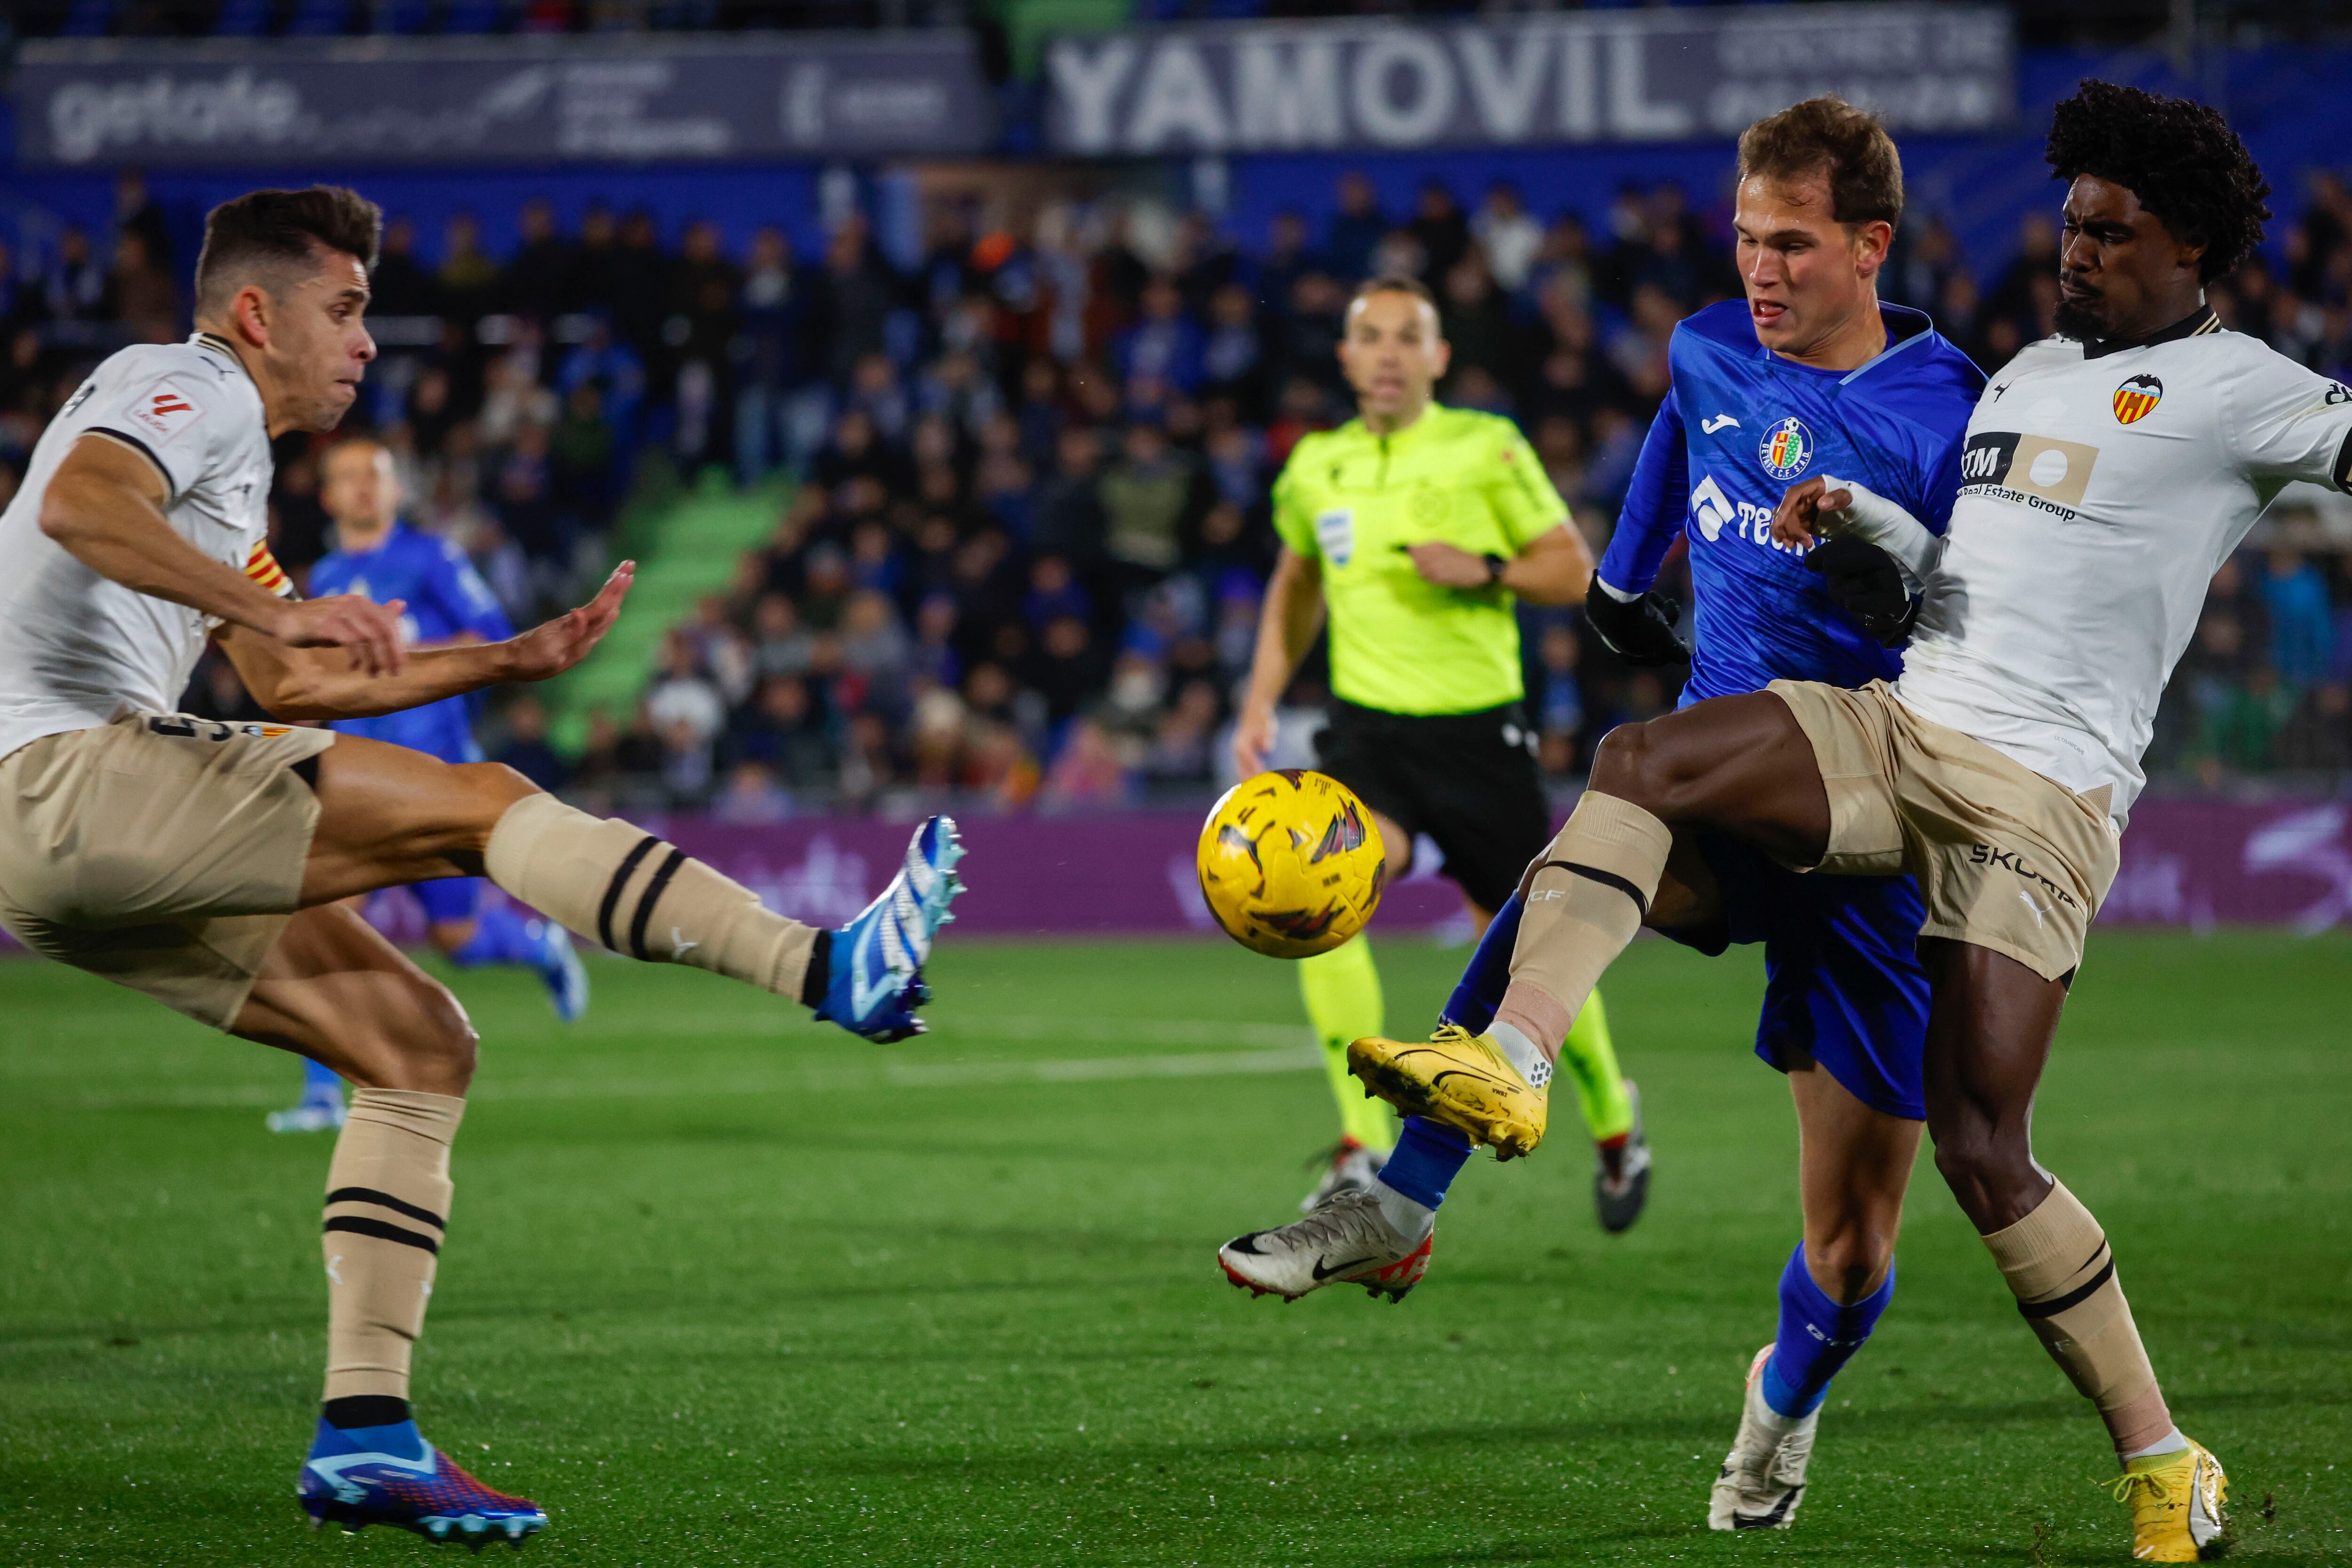
[(325, 729), (136, 712), (0, 759), (0, 926), (226, 1030), (299, 907)]

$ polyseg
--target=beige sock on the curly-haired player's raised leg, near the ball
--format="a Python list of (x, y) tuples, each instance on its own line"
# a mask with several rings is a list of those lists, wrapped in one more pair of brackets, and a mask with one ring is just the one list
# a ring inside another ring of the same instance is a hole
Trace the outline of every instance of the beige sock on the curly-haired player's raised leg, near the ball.
[(1496, 1023), (1512, 1025), (1557, 1063), (1585, 997), (1642, 929), (1672, 846), (1668, 825), (1642, 806), (1585, 790), (1526, 884)]

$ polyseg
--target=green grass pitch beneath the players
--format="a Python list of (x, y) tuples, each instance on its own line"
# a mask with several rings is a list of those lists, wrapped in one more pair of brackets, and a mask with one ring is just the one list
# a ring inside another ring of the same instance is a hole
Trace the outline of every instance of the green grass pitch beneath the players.
[[(1404, 1027), (1461, 952), (1381, 961)], [(553, 1512), (541, 1561), (2124, 1561), (2098, 1422), (1924, 1161), (1797, 1530), (1703, 1528), (1797, 1232), (1752, 957), (1609, 978), (1661, 1161), (1632, 1234), (1555, 1124), (1465, 1171), (1399, 1307), (1211, 1262), (1329, 1138), (1308, 1058), (1268, 1072), (1284, 964), (950, 933), (936, 980), (938, 1032), (868, 1048), (689, 971), (595, 966), (574, 1030), (459, 978), (485, 1051), (421, 1415)], [(2103, 933), (2042, 1095), (2241, 1559), (2352, 1554), (2347, 1001), (2340, 938)], [(327, 1161), (261, 1131), (292, 1060), (31, 961), (0, 1018), (0, 1563), (428, 1552), (292, 1500)], [(1136, 1056), (1169, 1060), (1030, 1067)]]

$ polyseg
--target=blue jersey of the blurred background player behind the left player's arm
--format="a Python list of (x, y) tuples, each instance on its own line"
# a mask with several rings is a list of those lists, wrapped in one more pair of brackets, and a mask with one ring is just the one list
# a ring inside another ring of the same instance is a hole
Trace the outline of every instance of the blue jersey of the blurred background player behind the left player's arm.
[[(499, 595), (489, 590), (466, 552), (402, 522), (395, 522), (374, 550), (336, 550), (310, 567), (310, 597), (322, 599), (339, 592), (355, 592), (376, 604), (407, 599), (400, 630), (412, 646), (456, 642), (468, 635), (482, 642), (503, 642), (515, 635), (506, 611), (499, 609)], [(482, 748), (473, 741), (470, 719), (473, 701), (452, 696), (374, 719), (336, 719), (334, 729), (346, 736), (407, 745), (442, 762), (480, 762)]]

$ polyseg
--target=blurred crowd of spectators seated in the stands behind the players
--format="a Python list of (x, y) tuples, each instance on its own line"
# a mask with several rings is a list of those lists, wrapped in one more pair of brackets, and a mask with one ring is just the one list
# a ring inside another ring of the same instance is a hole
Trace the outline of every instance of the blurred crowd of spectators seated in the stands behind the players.
[[(2347, 376), (2352, 195), (2328, 174), (2305, 195), (2213, 303)], [(428, 242), (393, 214), (372, 308), (383, 360), (353, 425), (395, 451), (412, 522), (459, 541), (517, 621), (602, 571), (649, 475), (767, 487), (771, 536), (668, 630), (642, 703), (593, 717), (583, 755), (557, 757), (529, 693), (492, 717), (494, 755), (546, 783), (746, 820), (910, 790), (1011, 809), (1218, 783), (1275, 555), (1268, 487), (1301, 435), (1352, 411), (1334, 346), (1355, 280), (1428, 280), (1454, 343), (1439, 397), (1519, 421), (1595, 555), (1675, 322), (1738, 294), (1724, 212), (1675, 186), (1548, 214), (1508, 186), (1430, 181), (1388, 212), (1345, 176), (1327, 221), (1249, 235), (1112, 200), (1018, 223), (941, 202), (913, 266), (856, 214), (818, 254), (781, 226), (729, 254), (710, 223), (661, 233), (590, 207), (567, 228), (543, 202), (520, 216), (522, 242), (489, 256), (463, 216)], [(1997, 369), (2051, 331), (2056, 247), (2037, 216), (2011, 259), (1971, 266), (1915, 214), (1882, 294)], [(186, 331), (191, 261), (136, 176), (111, 233), (0, 256), (0, 489), (96, 357)], [(275, 498), (296, 574), (329, 548), (315, 491), (318, 447), (296, 437)], [(2225, 564), (2154, 771), (2352, 771), (2340, 508), (2288, 496)], [(1686, 592), (1672, 562), (1668, 585)], [(1522, 621), (1555, 776), (1611, 724), (1672, 705), (1672, 679), (1625, 670), (1573, 611)], [(1298, 710), (1319, 679), (1310, 663)], [(191, 701), (242, 698), (226, 670), (200, 686)], [(1303, 745), (1308, 724), (1289, 731)]]

